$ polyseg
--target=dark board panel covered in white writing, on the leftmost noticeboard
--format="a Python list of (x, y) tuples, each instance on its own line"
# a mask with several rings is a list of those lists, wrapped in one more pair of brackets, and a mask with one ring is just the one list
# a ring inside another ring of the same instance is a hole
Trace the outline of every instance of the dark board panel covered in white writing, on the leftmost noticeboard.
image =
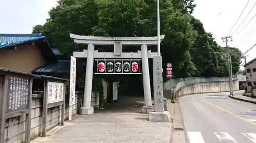
[(30, 77), (7, 75), (7, 109), (6, 112), (14, 112), (29, 109)]

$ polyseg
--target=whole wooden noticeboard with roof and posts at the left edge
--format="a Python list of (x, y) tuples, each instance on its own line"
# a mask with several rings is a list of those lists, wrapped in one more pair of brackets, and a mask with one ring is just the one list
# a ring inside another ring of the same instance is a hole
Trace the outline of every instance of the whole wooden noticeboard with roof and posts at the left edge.
[(32, 84), (35, 75), (0, 68), (0, 143), (6, 119), (25, 115), (25, 140), (30, 142)]

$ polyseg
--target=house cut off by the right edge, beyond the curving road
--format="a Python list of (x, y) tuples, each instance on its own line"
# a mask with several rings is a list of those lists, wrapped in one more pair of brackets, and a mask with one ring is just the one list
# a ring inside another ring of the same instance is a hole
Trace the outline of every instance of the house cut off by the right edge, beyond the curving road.
[(256, 58), (244, 65), (246, 68), (247, 91), (251, 92), (251, 87), (256, 87)]

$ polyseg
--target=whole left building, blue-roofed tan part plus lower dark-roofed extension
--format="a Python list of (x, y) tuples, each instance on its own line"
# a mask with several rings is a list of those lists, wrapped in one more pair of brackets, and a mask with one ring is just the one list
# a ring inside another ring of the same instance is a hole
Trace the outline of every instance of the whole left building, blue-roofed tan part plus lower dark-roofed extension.
[[(58, 60), (62, 57), (42, 34), (0, 34), (0, 68), (69, 78), (70, 59)], [(77, 72), (85, 69), (81, 61)]]

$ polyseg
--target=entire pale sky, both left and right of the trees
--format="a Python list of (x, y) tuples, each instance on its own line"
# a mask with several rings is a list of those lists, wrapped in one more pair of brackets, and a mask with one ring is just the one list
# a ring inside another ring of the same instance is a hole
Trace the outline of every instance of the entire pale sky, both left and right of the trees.
[[(195, 0), (195, 3), (197, 7), (193, 15), (201, 20), (207, 32), (214, 34), (218, 44), (224, 46), (225, 43), (222, 42), (221, 37), (226, 36), (236, 22), (247, 0)], [(244, 14), (233, 30), (237, 29), (255, 3), (256, 0), (250, 0)], [(0, 17), (2, 19), (0, 22), (0, 33), (31, 33), (34, 25), (46, 22), (46, 19), (49, 17), (48, 11), (55, 6), (55, 0), (0, 0)], [(256, 6), (234, 34), (242, 30), (254, 14), (256, 14)], [(254, 40), (256, 30), (248, 36), (254, 29), (256, 29), (256, 16), (243, 31), (234, 35), (233, 41), (228, 44), (239, 47), (242, 52), (245, 52), (256, 43), (256, 40)], [(248, 53), (247, 61), (255, 57), (256, 47)]]

